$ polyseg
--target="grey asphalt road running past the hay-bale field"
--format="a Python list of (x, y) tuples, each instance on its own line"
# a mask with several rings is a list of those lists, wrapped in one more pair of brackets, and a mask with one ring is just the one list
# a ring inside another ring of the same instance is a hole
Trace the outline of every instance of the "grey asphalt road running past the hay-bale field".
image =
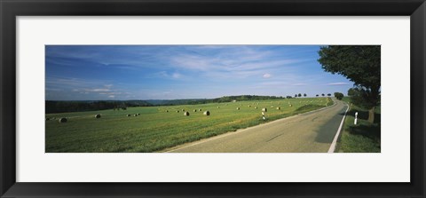
[(171, 148), (176, 153), (327, 153), (346, 107), (331, 107)]

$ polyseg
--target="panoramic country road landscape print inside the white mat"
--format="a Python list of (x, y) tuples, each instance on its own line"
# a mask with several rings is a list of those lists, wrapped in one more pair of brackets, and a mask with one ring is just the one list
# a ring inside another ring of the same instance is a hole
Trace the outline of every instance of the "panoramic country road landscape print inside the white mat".
[(45, 45), (46, 153), (380, 153), (380, 45)]

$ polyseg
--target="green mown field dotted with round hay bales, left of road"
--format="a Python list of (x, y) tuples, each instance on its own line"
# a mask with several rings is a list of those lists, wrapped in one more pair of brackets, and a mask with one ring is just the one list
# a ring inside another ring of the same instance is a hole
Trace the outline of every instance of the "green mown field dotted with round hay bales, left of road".
[[(274, 99), (48, 114), (45, 115), (50, 118), (45, 121), (45, 151), (155, 152), (332, 104), (329, 98)], [(267, 108), (265, 121), (264, 107)], [(190, 115), (185, 116), (182, 109)], [(203, 115), (206, 110), (209, 116)], [(97, 114), (101, 118), (95, 118)], [(134, 116), (136, 114), (140, 115)], [(66, 117), (67, 123), (59, 123), (60, 117)]]

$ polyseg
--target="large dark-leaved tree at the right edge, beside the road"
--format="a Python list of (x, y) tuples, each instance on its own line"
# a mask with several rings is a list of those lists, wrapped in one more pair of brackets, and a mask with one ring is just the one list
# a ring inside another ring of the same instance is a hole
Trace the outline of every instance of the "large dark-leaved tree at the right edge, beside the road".
[(343, 75), (354, 84), (352, 103), (368, 109), (368, 122), (375, 121), (380, 102), (380, 45), (335, 45), (321, 47), (319, 63), (331, 74)]

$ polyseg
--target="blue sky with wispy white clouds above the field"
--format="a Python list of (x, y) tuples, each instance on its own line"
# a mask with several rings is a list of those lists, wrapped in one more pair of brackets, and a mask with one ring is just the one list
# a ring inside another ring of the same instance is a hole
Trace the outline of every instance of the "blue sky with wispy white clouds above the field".
[(311, 45), (46, 45), (47, 100), (346, 94)]

